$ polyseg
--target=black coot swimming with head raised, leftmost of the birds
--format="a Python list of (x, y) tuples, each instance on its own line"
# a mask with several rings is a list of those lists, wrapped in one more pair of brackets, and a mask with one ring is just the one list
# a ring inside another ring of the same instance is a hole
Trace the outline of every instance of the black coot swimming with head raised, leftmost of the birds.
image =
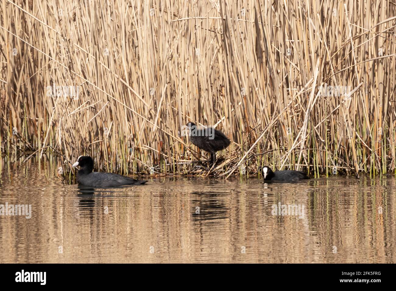
[(96, 188), (116, 187), (122, 185), (140, 185), (147, 181), (135, 180), (112, 173), (93, 172), (93, 160), (90, 156), (79, 156), (73, 167), (80, 166), (77, 173), (77, 182), (80, 185)]

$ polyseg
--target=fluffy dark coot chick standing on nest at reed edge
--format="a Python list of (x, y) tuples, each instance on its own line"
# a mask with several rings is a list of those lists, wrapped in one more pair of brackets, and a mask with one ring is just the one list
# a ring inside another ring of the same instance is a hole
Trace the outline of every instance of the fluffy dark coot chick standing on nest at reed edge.
[(216, 161), (216, 152), (230, 145), (230, 140), (221, 131), (213, 127), (198, 128), (193, 122), (188, 122), (188, 136), (198, 148), (210, 152), (211, 164)]

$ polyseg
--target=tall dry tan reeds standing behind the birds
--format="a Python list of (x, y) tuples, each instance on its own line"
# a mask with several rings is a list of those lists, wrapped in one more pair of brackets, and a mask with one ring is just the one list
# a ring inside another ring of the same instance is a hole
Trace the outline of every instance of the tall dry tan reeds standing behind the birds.
[(309, 165), (315, 175), (395, 170), (390, 1), (98, 9), (34, 0), (0, 10), (2, 153), (89, 154), (107, 171), (206, 175), (185, 164), (203, 157), (179, 136), (196, 121), (234, 141), (217, 167), (225, 177), (257, 164)]

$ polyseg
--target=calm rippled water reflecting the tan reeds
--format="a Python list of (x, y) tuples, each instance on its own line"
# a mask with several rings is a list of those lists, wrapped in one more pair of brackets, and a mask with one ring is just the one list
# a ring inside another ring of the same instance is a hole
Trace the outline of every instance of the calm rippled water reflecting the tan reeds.
[[(82, 190), (48, 165), (1, 169), (0, 204), (32, 207), (30, 219), (0, 216), (1, 263), (396, 262), (394, 178), (166, 177)], [(272, 215), (279, 202), (304, 213)]]

